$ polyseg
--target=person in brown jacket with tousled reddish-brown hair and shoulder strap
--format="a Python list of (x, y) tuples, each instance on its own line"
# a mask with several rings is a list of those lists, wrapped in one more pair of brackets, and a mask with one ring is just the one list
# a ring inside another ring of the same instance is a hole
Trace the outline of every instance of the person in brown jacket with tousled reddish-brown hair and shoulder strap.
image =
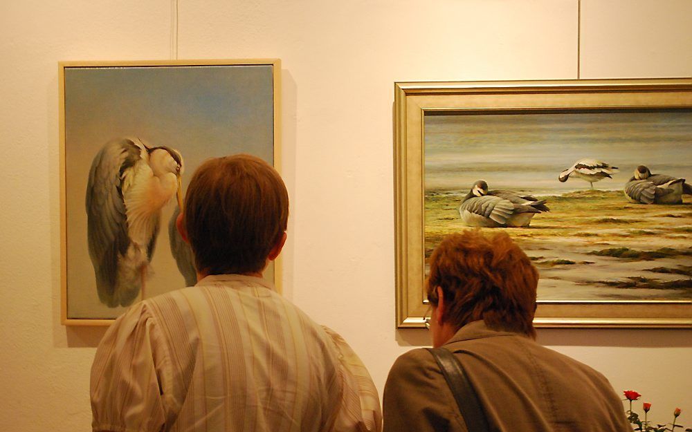
[(457, 400), (432, 352), (419, 348), (390, 370), (383, 430), (466, 432), (481, 417), (491, 431), (631, 431), (603, 375), (534, 341), (537, 285), (507, 233), (444, 238), (430, 256), (426, 322), (432, 345), (459, 360), (480, 409), (472, 412), (472, 397)]

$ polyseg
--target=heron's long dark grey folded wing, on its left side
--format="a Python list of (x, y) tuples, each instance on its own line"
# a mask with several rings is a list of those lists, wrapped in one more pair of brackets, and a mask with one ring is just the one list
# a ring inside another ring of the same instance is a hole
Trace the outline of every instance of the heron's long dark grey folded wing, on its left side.
[(95, 156), (86, 186), (87, 240), (99, 297), (111, 303), (118, 256), (127, 252), (127, 217), (122, 179), (140, 160), (140, 148), (130, 140), (114, 140)]

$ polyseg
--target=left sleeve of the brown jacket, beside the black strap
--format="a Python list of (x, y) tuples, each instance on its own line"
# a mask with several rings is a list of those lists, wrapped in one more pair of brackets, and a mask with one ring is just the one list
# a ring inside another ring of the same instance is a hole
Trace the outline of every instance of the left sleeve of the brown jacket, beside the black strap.
[(423, 348), (394, 362), (383, 396), (383, 432), (466, 432), (435, 359)]

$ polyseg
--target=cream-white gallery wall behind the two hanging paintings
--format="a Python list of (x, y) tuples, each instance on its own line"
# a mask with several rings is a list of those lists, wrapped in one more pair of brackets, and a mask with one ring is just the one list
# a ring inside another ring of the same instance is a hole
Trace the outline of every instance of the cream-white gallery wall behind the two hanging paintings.
[[(89, 429), (102, 328), (60, 315), (59, 60), (170, 59), (171, 1), (0, 2), (0, 431)], [(179, 1), (181, 59), (282, 59), (286, 295), (383, 388), (394, 329), (394, 81), (578, 77), (578, 0)], [(582, 0), (581, 77), (692, 74), (692, 1)], [(540, 330), (692, 425), (692, 330)], [(578, 408), (578, 407), (575, 407)], [(666, 415), (663, 415), (666, 413)], [(588, 413), (584, 413), (588, 415)]]

